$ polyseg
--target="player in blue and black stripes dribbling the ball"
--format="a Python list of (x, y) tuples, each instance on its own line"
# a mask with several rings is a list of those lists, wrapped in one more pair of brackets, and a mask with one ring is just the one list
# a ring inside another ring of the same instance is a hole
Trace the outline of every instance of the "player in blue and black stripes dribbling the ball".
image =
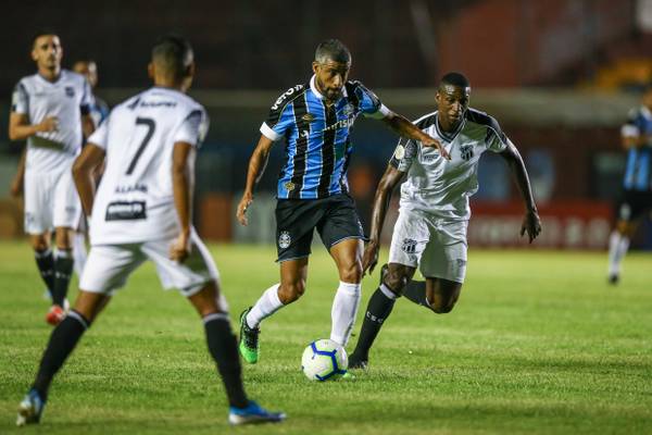
[(381, 120), (397, 134), (439, 149), (432, 139), (405, 117), (387, 109), (360, 82), (349, 80), (351, 53), (342, 42), (328, 39), (317, 46), (314, 75), (272, 105), (261, 126), (261, 138), (249, 161), (247, 185), (237, 217), (247, 225), (253, 201), (275, 141), (286, 139), (286, 157), (278, 179), (276, 225), (280, 283), (267, 288), (240, 315), (240, 353), (249, 363), (259, 360), (260, 323), (305, 291), (311, 241), (316, 228), (333, 257), (339, 286), (331, 309), (330, 339), (346, 346), (360, 304), (363, 228), (349, 196), (347, 169), (353, 151), (350, 130), (363, 114)]

